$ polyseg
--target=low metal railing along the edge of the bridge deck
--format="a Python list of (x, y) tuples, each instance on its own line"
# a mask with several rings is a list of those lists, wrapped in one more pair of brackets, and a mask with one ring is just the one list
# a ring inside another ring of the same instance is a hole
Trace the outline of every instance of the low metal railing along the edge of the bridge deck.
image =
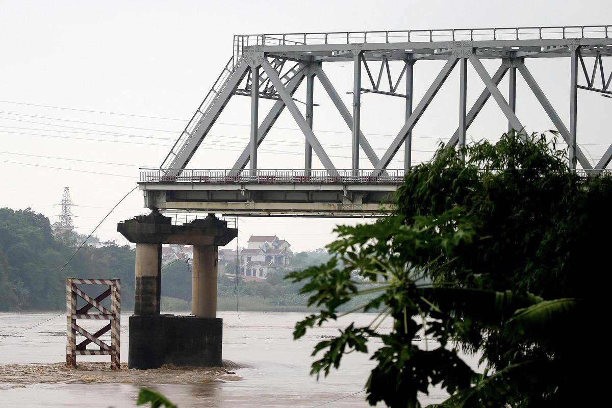
[(372, 169), (141, 169), (140, 182), (209, 184), (401, 184), (405, 169), (386, 169), (372, 176)]

